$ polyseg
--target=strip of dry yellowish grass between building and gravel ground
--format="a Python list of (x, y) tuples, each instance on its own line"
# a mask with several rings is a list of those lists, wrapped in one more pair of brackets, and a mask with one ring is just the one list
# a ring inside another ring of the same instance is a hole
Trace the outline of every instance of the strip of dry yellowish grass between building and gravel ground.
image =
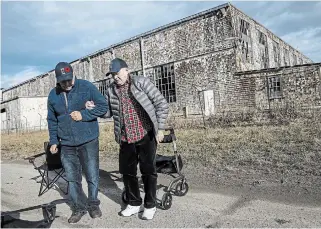
[[(182, 124), (184, 126), (184, 124)], [(321, 122), (296, 120), (288, 125), (179, 128), (178, 150), (186, 163), (217, 169), (253, 169), (266, 173), (292, 171), (321, 175)], [(102, 160), (117, 158), (118, 145), (111, 123), (101, 127)], [(2, 135), (2, 158), (23, 158), (42, 151), (47, 132)], [(171, 154), (171, 145), (158, 153)]]

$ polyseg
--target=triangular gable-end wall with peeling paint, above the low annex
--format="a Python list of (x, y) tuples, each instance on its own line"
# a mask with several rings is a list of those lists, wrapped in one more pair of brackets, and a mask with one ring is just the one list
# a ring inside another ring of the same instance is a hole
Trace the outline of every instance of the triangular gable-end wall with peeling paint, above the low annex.
[[(300, 53), (298, 50), (285, 43), (271, 31), (250, 18), (235, 7), (231, 7), (232, 21), (235, 35), (235, 45), (237, 46), (237, 63), (239, 71), (258, 70), (263, 68), (274, 68), (280, 66), (293, 66), (299, 64), (312, 63), (312, 61)], [(241, 19), (249, 23), (249, 58), (242, 55)], [(260, 32), (266, 36), (267, 42), (267, 66), (264, 66), (262, 55), (265, 49), (260, 43)], [(275, 47), (273, 47), (275, 46)]]

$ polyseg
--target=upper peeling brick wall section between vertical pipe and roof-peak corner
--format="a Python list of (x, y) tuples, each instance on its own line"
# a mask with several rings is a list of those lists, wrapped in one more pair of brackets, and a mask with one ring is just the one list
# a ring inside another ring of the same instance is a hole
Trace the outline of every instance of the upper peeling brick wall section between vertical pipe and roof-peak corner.
[(181, 61), (231, 48), (230, 15), (216, 12), (144, 38), (145, 67)]

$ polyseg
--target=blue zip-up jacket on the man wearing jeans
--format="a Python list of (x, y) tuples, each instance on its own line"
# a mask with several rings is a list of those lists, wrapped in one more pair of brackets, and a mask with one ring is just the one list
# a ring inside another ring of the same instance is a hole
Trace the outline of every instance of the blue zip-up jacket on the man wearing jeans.
[[(95, 108), (88, 110), (87, 101), (94, 101)], [(97, 118), (108, 111), (105, 97), (87, 80), (75, 78), (73, 88), (65, 93), (57, 86), (48, 96), (48, 129), (50, 144), (78, 146), (99, 136)], [(70, 114), (80, 111), (81, 121), (74, 121)]]

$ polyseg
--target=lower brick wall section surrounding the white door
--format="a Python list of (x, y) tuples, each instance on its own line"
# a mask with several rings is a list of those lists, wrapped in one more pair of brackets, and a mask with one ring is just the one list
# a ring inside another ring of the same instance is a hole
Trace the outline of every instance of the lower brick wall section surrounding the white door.
[(216, 112), (228, 106), (233, 84), (235, 53), (233, 49), (215, 52), (205, 56), (177, 62), (176, 76), (177, 102), (174, 110), (182, 111), (188, 106), (191, 113), (200, 113), (203, 104), (201, 91), (214, 90)]

